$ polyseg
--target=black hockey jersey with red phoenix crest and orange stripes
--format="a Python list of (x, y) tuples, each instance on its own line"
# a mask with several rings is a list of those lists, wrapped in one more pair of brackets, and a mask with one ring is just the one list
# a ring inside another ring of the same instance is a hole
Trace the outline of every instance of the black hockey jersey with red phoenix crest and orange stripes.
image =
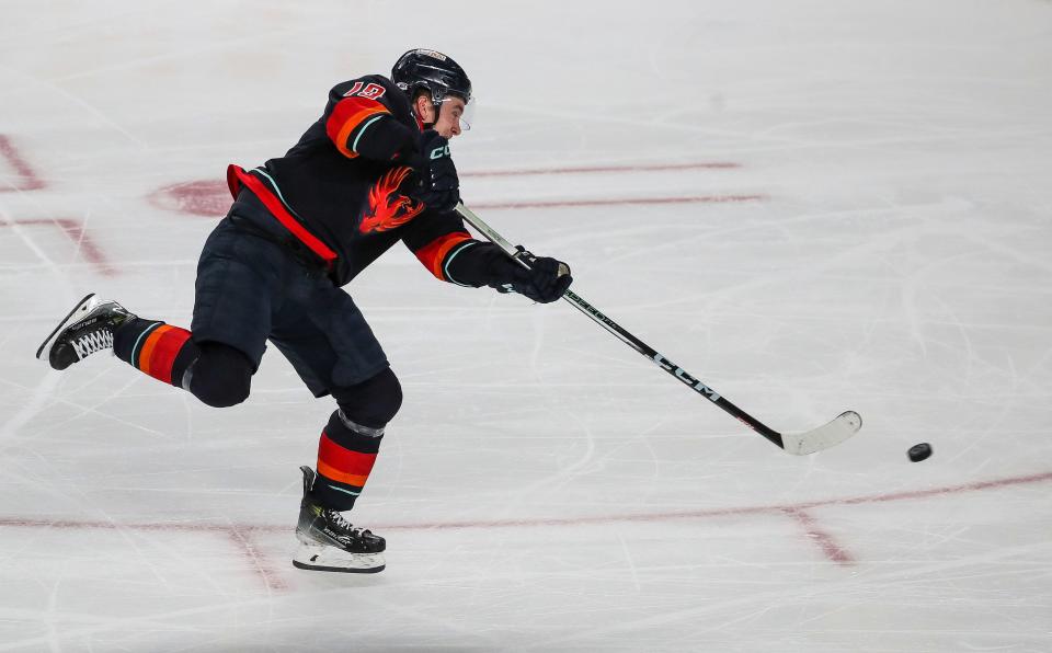
[(479, 244), (460, 217), (400, 192), (412, 171), (399, 161), (419, 148), (420, 133), (403, 91), (386, 77), (362, 77), (332, 88), (324, 113), (284, 157), (249, 172), (231, 167), (228, 181), (235, 197), (247, 187), (325, 261), (336, 285), (399, 240), (439, 279), (478, 285), (448, 270)]

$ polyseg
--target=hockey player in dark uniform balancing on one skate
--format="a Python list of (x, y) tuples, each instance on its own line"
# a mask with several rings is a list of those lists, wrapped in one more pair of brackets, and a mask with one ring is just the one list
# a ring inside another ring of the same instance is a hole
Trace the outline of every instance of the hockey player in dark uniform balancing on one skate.
[(211, 406), (249, 396), (270, 341), (316, 397), (336, 410), (321, 433), (304, 497), (293, 563), (378, 572), (384, 538), (353, 526), (351, 509), (373, 469), (401, 387), (351, 296), (341, 289), (402, 241), (438, 279), (559, 299), (565, 264), (530, 255), (530, 270), (471, 238), (454, 210), (459, 181), (449, 139), (467, 128), (471, 82), (449, 57), (413, 49), (390, 79), (336, 84), (324, 113), (284, 157), (230, 165), (235, 198), (197, 265), (191, 329), (134, 314), (89, 295), (37, 351), (55, 369), (112, 350), (133, 367)]

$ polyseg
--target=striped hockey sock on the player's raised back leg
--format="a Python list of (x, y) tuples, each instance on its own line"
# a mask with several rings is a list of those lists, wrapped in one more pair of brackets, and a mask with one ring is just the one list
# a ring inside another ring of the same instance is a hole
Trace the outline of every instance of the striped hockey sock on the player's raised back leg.
[(116, 330), (113, 352), (132, 367), (176, 388), (182, 387), (183, 373), (199, 355), (190, 331), (139, 318)]

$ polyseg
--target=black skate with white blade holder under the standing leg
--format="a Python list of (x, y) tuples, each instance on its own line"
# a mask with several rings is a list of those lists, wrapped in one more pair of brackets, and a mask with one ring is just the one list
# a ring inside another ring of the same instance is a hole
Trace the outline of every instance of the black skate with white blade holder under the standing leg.
[(316, 571), (336, 571), (370, 574), (384, 570), (384, 538), (363, 528), (355, 528), (334, 511), (319, 503), (311, 490), (315, 470), (304, 472), (304, 500), (299, 504), (299, 524), (296, 539), (299, 548), (293, 565)]

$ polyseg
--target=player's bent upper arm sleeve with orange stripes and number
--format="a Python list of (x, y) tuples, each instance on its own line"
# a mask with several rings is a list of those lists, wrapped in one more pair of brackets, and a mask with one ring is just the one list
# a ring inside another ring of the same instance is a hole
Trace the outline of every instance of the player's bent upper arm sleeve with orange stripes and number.
[[(325, 107), (325, 134), (348, 159), (397, 161), (419, 149), (420, 130), (400, 121), (395, 103), (402, 91), (389, 79), (370, 75), (336, 84)], [(409, 119), (409, 118), (407, 118)]]

